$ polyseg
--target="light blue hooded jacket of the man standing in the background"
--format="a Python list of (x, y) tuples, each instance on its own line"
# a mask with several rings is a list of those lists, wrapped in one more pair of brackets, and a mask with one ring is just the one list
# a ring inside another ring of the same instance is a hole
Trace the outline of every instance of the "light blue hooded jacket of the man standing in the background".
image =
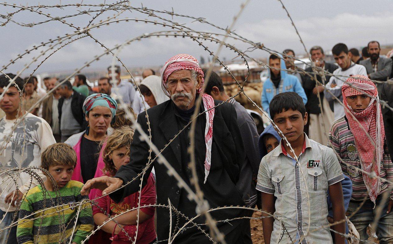
[(301, 98), (303, 98), (304, 104), (307, 103), (307, 96), (306, 93), (304, 92), (303, 87), (300, 84), (300, 81), (298, 77), (294, 75), (289, 75), (285, 70), (285, 61), (282, 59), (281, 54), (277, 54), (280, 57), (280, 65), (281, 65), (281, 81), (278, 85), (278, 88), (275, 88), (272, 80), (270, 79), (270, 76), (272, 75), (270, 68), (268, 68), (268, 79), (263, 83), (263, 90), (262, 90), (262, 97), (261, 97), (261, 104), (263, 110), (269, 114), (269, 104), (272, 98), (283, 92), (287, 91), (294, 91), (299, 94)]

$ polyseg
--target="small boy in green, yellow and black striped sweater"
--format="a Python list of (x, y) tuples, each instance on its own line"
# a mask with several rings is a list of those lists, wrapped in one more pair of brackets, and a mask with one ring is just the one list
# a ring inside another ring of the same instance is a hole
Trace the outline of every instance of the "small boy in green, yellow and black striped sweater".
[(71, 179), (76, 163), (72, 147), (49, 146), (41, 155), (41, 167), (49, 172), (44, 186), (30, 189), (20, 206), (18, 244), (81, 244), (93, 230), (88, 197), (81, 195), (83, 183)]

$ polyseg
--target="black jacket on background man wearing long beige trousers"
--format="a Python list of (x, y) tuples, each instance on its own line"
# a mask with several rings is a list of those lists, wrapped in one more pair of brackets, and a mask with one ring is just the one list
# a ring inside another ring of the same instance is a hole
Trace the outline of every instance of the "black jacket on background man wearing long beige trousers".
[[(338, 66), (325, 62), (325, 70), (328, 71), (329, 73), (333, 73), (333, 71), (336, 69), (338, 69)], [(306, 69), (306, 71), (312, 72), (312, 68), (308, 67)], [(312, 75), (312, 76), (313, 76), (313, 78), (311, 78), (308, 75), (305, 75), (304, 79), (303, 79), (303, 88), (304, 88), (304, 92), (306, 93), (306, 96), (307, 96), (306, 110), (307, 110), (307, 113), (319, 115), (321, 113), (321, 109), (319, 106), (318, 95), (315, 95), (314, 93), (312, 93), (312, 89), (315, 88), (316, 81), (314, 80), (314, 75)], [(329, 82), (329, 79), (331, 76), (326, 75), (325, 77), (326, 77), (325, 84), (327, 84), (327, 82)], [(322, 78), (320, 75), (317, 75), (317, 80), (319, 82), (322, 82)], [(323, 99), (323, 92), (320, 93), (320, 96), (321, 96), (321, 99)]]

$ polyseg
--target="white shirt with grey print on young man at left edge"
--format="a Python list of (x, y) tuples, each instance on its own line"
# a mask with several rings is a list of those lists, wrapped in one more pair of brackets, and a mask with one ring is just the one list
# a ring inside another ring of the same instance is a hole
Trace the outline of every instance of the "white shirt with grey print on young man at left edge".
[[(20, 120), (20, 119), (18, 119)], [(28, 113), (22, 122), (18, 124), (16, 129), (11, 133), (12, 127), (15, 125), (14, 120), (7, 120), (6, 117), (0, 119), (0, 169), (7, 170), (16, 167), (29, 167), (41, 165), (41, 152), (51, 144), (55, 144), (55, 138), (49, 124), (40, 117)], [(7, 138), (11, 135), (9, 142)], [(4, 148), (4, 151), (3, 151)], [(42, 171), (36, 171), (38, 175), (45, 180)], [(11, 176), (17, 179), (18, 189), (22, 193), (26, 193), (29, 189), (37, 186), (38, 182), (33, 178), (30, 185), (31, 176), (28, 173), (20, 173), (11, 171)], [(0, 209), (2, 211), (13, 212), (15, 207), (4, 203), (4, 198), (14, 191), (15, 183), (12, 178), (6, 174), (0, 175)]]

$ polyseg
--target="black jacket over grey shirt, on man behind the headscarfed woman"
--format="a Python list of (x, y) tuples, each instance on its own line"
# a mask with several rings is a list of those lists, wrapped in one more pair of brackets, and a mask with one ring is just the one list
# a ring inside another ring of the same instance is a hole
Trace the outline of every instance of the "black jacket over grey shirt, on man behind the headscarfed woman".
[[(84, 113), (83, 113), (83, 102), (86, 99), (82, 93), (73, 91), (73, 95), (71, 98), (71, 112), (75, 120), (81, 125), (81, 131), (84, 131), (86, 127), (86, 119), (84, 118)], [(59, 110), (59, 127), (61, 123), (61, 108), (64, 103), (64, 98), (59, 98), (59, 104), (57, 104), (57, 109)], [(61, 133), (61, 131), (60, 131)]]

